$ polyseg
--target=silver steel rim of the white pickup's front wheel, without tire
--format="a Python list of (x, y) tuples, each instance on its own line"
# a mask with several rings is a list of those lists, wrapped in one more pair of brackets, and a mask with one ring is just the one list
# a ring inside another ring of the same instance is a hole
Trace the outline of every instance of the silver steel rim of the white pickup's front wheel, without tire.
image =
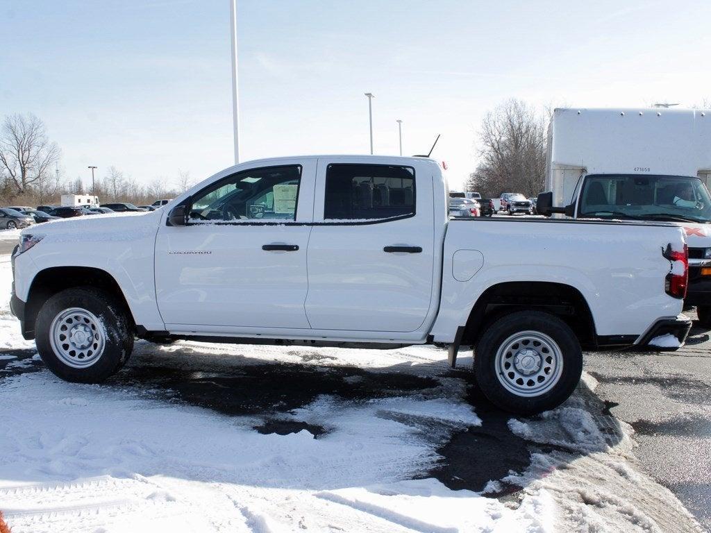
[(105, 337), (101, 321), (80, 307), (61, 311), (50, 325), (52, 350), (73, 368), (86, 368), (97, 362), (104, 352)]

